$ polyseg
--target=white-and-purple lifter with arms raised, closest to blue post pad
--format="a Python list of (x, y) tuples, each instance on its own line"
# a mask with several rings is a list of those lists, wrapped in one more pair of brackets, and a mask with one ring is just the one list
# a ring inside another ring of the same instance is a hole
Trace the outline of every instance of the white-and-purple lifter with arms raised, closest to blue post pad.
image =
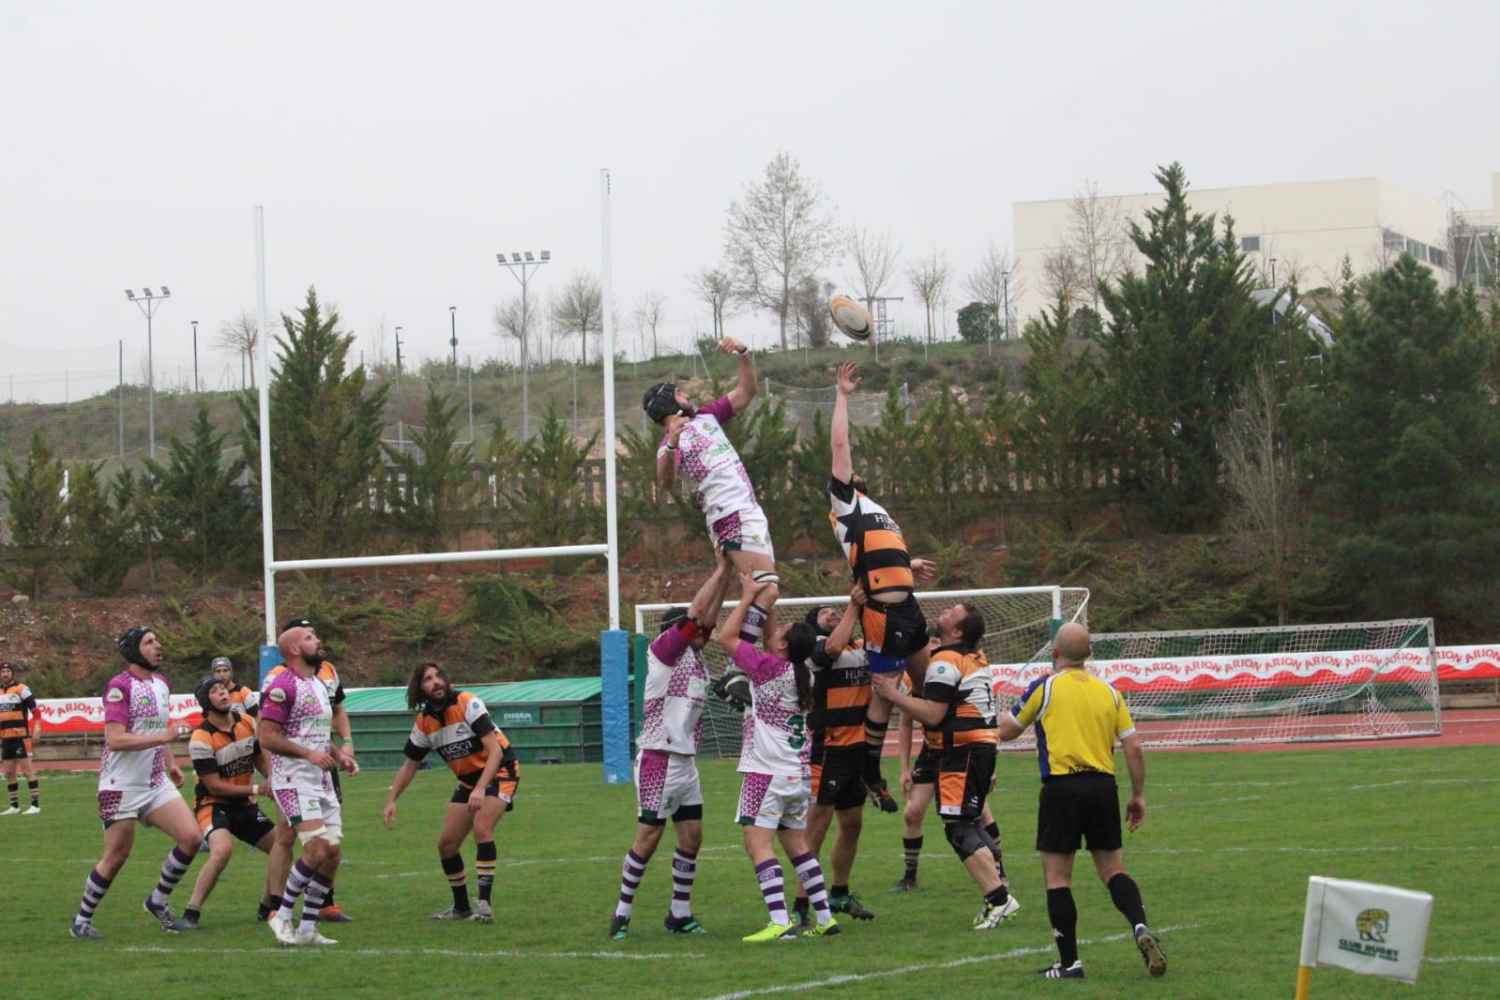
[(609, 937), (626, 940), (636, 891), (646, 862), (662, 843), (668, 817), (676, 834), (672, 853), (672, 906), (666, 930), (672, 934), (702, 934), (693, 916), (693, 880), (698, 852), (704, 844), (704, 789), (698, 780), (698, 741), (704, 735), (704, 705), (708, 702), (708, 667), (702, 648), (718, 621), (724, 586), (732, 577), (722, 556), (712, 574), (693, 597), (687, 612), (676, 610), (662, 621), (662, 633), (646, 649), (645, 718), (636, 756), (636, 840), (626, 852), (620, 876), (620, 901), (609, 921)]

